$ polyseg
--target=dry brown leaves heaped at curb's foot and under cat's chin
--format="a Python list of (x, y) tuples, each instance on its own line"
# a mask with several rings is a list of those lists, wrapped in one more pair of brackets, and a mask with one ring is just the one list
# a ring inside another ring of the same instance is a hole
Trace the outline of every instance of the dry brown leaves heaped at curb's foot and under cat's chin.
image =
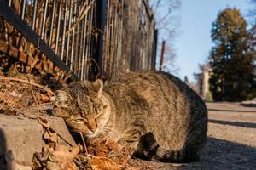
[[(59, 145), (58, 135), (50, 128), (49, 122), (39, 117), (44, 127), (45, 146), (42, 152), (36, 152), (32, 160), (32, 169), (39, 170), (137, 170), (128, 163), (130, 151), (121, 149), (111, 139), (96, 139), (88, 150), (86, 145)], [(81, 136), (83, 139), (83, 137)]]

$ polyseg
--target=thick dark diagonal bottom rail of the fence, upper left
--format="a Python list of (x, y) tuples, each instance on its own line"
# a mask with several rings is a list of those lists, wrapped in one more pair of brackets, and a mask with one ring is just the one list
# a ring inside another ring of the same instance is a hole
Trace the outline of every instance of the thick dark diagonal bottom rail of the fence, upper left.
[[(32, 30), (25, 21), (21, 20), (20, 15), (15, 13), (13, 8), (9, 7), (9, 4), (4, 0), (0, 0), (0, 14), (3, 19), (14, 26), (17, 31), (26, 37), (29, 42), (32, 42), (42, 53), (44, 53), (55, 65), (57, 65), (62, 71), (69, 72), (69, 68), (61, 59), (49, 48), (49, 46), (38, 36), (38, 34)], [(73, 80), (79, 80), (76, 75), (72, 75)]]

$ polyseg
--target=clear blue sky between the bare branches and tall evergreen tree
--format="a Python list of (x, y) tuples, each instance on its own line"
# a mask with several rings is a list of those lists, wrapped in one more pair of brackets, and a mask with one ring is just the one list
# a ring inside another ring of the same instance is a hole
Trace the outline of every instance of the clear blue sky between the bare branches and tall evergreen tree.
[(250, 4), (247, 0), (181, 0), (177, 15), (180, 19), (174, 48), (177, 59), (178, 77), (195, 81), (193, 73), (199, 72), (199, 64), (207, 60), (212, 48), (211, 28), (218, 12), (224, 8), (239, 8), (247, 16)]

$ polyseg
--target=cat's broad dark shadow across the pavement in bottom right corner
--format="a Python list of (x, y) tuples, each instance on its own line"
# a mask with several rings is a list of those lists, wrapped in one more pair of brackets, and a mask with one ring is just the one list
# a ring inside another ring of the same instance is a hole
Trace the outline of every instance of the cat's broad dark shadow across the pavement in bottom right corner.
[(145, 170), (255, 170), (255, 160), (256, 148), (209, 137), (207, 139), (206, 147), (201, 151), (201, 161), (183, 165), (142, 160), (132, 161), (135, 165), (145, 167), (143, 168)]

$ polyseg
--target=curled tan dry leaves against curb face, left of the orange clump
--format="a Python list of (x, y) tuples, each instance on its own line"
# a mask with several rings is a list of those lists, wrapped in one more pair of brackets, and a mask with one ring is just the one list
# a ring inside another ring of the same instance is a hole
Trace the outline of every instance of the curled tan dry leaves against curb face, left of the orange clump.
[(42, 152), (36, 152), (34, 154), (32, 169), (88, 169), (90, 164), (88, 164), (86, 157), (79, 156), (79, 153), (83, 153), (83, 147), (81, 145), (70, 147), (59, 145), (58, 135), (50, 128), (49, 122), (43, 117), (39, 117), (38, 122), (44, 128), (43, 138), (46, 145), (42, 149)]

